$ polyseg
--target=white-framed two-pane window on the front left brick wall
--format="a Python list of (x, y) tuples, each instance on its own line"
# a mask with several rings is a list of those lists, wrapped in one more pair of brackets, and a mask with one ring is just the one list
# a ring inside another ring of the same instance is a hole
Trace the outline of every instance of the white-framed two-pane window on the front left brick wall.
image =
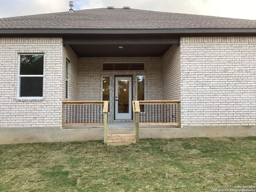
[(21, 54), (19, 97), (43, 97), (44, 55)]

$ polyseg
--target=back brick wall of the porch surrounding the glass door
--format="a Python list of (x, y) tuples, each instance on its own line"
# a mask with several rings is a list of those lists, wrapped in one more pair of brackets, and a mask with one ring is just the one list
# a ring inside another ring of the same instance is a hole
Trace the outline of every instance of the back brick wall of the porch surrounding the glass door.
[[(102, 62), (145, 62), (145, 71), (102, 71)], [(146, 100), (162, 100), (162, 58), (78, 58), (78, 99), (101, 100), (102, 76), (110, 76), (110, 117), (114, 119), (114, 75), (133, 75), (133, 100), (137, 99), (137, 75), (145, 75)]]

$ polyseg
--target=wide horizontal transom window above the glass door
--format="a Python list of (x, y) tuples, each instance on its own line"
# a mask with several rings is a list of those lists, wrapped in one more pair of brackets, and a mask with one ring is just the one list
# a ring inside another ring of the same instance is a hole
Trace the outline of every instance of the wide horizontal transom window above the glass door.
[(102, 70), (145, 70), (145, 63), (102, 63)]

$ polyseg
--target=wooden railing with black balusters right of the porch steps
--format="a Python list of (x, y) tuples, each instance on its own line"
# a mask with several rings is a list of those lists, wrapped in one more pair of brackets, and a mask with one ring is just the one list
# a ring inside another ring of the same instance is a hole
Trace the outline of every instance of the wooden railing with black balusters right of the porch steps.
[(139, 125), (180, 127), (180, 101), (133, 101), (135, 133), (139, 141)]

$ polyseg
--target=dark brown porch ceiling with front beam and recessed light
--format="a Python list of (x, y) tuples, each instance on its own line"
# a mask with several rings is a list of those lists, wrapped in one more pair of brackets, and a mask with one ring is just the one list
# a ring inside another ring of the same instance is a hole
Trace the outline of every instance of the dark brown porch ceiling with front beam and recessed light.
[(78, 57), (161, 57), (172, 44), (179, 44), (179, 38), (106, 36), (64, 38), (63, 43), (70, 45)]

